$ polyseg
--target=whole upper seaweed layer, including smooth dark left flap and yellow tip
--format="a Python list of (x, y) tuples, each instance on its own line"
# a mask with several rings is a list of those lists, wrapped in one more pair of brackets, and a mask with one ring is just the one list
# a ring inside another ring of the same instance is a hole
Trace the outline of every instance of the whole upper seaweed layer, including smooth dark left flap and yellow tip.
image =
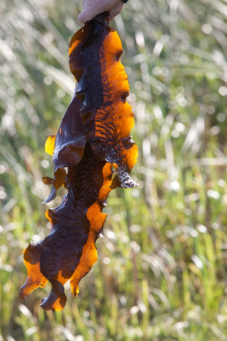
[(126, 102), (129, 85), (120, 56), (121, 40), (108, 26), (108, 13), (100, 14), (78, 30), (70, 41), (70, 70), (77, 83), (57, 135), (48, 137), (45, 150), (53, 155), (54, 179), (48, 203), (66, 186), (63, 167), (77, 165), (89, 141), (94, 153), (115, 164), (119, 187), (137, 186), (130, 176), (138, 148), (130, 131), (132, 107)]

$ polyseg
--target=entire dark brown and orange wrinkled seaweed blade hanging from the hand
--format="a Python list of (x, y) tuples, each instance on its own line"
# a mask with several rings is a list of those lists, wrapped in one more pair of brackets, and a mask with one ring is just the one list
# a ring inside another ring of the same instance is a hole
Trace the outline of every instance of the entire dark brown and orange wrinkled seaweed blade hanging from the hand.
[(54, 178), (43, 178), (52, 186), (45, 203), (62, 185), (68, 192), (60, 206), (46, 212), (50, 234), (40, 242), (31, 241), (24, 251), (28, 275), (20, 288), (20, 298), (25, 298), (49, 281), (51, 292), (41, 303), (45, 310), (64, 308), (63, 285), (69, 279), (77, 296), (79, 281), (97, 261), (95, 241), (103, 235), (102, 210), (109, 192), (117, 186), (136, 186), (130, 172), (137, 146), (130, 136), (134, 119), (126, 102), (129, 89), (122, 53), (120, 38), (105, 14), (86, 23), (70, 42), (76, 87), (57, 135), (45, 144), (54, 162)]

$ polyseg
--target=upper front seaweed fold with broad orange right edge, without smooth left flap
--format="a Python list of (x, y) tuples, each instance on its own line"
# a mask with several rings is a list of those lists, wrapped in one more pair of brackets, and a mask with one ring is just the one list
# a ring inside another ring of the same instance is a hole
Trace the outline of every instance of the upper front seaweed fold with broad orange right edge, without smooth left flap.
[(114, 28), (91, 20), (70, 42), (69, 63), (78, 86), (76, 96), (85, 134), (93, 151), (117, 165), (121, 187), (134, 187), (130, 172), (138, 149), (130, 131), (134, 126), (132, 107), (126, 102), (129, 86), (120, 56), (119, 35)]

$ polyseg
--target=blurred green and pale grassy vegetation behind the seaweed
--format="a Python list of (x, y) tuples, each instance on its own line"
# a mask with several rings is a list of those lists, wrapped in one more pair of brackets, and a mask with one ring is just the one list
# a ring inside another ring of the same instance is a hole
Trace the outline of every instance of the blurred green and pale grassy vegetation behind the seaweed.
[(0, 2), (0, 340), (227, 340), (224, 0), (130, 0), (111, 22), (140, 187), (110, 193), (98, 262), (77, 298), (65, 285), (62, 312), (39, 307), (49, 285), (18, 298), (22, 250), (50, 229), (44, 144), (73, 93), (68, 45), (81, 3)]

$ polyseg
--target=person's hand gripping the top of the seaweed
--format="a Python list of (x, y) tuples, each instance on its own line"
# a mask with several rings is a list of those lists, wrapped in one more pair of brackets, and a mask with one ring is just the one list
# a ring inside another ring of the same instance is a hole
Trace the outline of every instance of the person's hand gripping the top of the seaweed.
[(78, 19), (85, 24), (96, 15), (108, 11), (110, 21), (121, 13), (123, 6), (122, 0), (83, 0), (83, 11), (78, 15)]

